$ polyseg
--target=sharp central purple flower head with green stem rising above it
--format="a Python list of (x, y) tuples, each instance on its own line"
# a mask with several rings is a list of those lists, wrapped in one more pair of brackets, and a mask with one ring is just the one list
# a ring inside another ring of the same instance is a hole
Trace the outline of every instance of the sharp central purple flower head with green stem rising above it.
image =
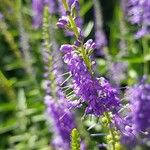
[[(64, 6), (68, 11), (69, 6), (66, 1)], [(77, 40), (80, 41), (80, 32), (71, 14), (68, 15), (68, 19), (72, 25), (70, 30), (74, 31)], [(82, 99), (82, 102), (88, 104), (85, 112), (100, 116), (119, 106), (118, 93), (108, 81), (93, 76), (90, 51), (95, 49), (95, 43), (92, 40), (88, 40), (85, 44), (82, 41), (80, 43), (79, 47), (62, 45), (60, 50), (64, 53), (64, 62), (71, 72), (75, 94)]]

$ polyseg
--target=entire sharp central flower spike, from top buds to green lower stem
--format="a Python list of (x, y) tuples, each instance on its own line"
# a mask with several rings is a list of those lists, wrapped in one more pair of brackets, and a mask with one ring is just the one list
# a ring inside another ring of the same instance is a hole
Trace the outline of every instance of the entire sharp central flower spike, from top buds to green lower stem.
[[(64, 44), (60, 51), (64, 54), (64, 62), (69, 69), (72, 77), (72, 89), (75, 97), (78, 98), (76, 107), (86, 103), (85, 114), (93, 114), (97, 117), (103, 116), (106, 127), (109, 128), (109, 149), (120, 149), (118, 133), (112, 126), (112, 115), (116, 114), (120, 107), (118, 91), (103, 77), (94, 76), (93, 67), (95, 62), (91, 59), (91, 54), (96, 48), (92, 39), (84, 43), (82, 29), (75, 22), (78, 0), (75, 0), (71, 6), (66, 0), (62, 0), (66, 14), (62, 16), (57, 26), (73, 32), (74, 44)], [(74, 97), (74, 98), (75, 98)], [(116, 138), (117, 137), (117, 138)]]

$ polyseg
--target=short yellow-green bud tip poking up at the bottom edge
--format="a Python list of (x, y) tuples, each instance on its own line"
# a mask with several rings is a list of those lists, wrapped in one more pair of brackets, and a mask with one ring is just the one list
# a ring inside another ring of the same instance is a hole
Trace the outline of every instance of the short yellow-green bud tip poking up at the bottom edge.
[(77, 129), (73, 129), (71, 132), (71, 150), (80, 150), (80, 135)]

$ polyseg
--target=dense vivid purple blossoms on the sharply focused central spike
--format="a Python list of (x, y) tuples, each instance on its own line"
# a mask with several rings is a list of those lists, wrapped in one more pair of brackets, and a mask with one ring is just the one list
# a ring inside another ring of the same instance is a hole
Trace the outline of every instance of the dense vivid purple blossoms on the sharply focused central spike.
[[(94, 44), (89, 41), (85, 44), (91, 48)], [(97, 79), (91, 75), (83, 59), (78, 56), (72, 45), (62, 45), (60, 50), (65, 54), (67, 64), (73, 77), (73, 88), (77, 96), (87, 102), (87, 114), (96, 116), (119, 106), (117, 91), (104, 78)]]

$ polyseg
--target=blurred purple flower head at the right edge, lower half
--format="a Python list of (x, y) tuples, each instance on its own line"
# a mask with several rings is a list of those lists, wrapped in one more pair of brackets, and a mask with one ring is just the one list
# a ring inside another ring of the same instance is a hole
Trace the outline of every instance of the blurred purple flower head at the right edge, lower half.
[(137, 133), (147, 132), (150, 136), (150, 84), (142, 81), (129, 89), (131, 117)]

